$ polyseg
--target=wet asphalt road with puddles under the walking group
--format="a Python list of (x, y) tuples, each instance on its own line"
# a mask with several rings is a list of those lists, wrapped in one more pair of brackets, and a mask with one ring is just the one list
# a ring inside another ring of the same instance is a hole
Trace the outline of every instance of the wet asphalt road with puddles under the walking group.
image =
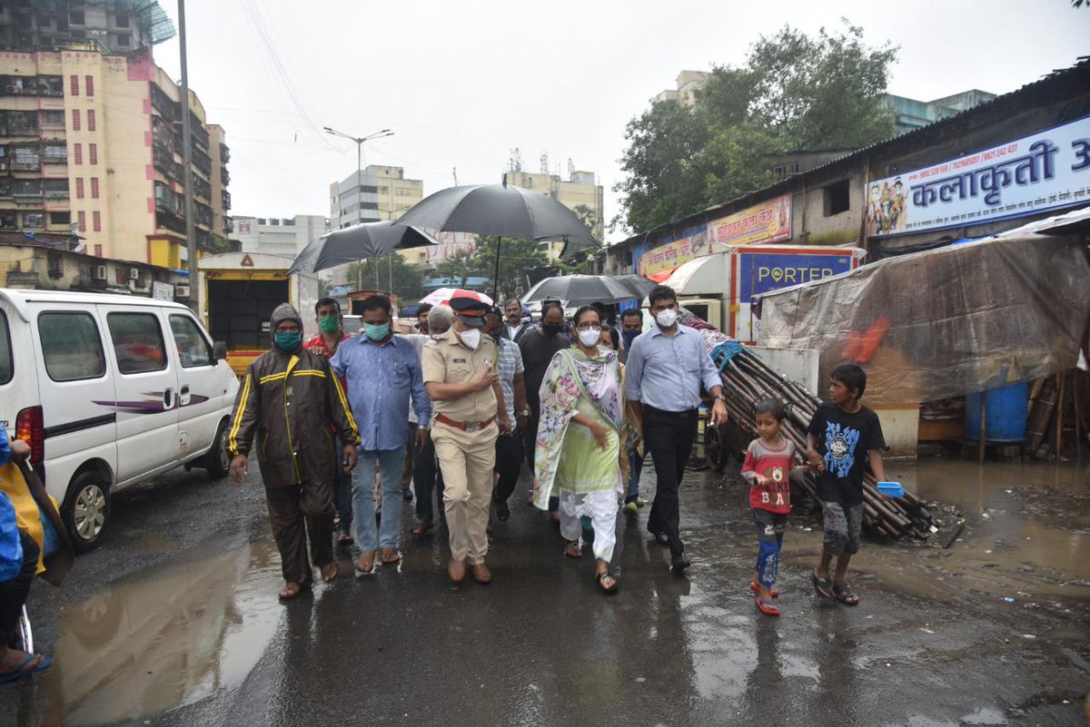
[[(957, 467), (889, 469), (908, 483)], [(779, 619), (747, 589), (755, 539), (732, 475), (682, 485), (688, 577), (668, 571), (644, 508), (619, 517), (621, 590), (603, 596), (590, 550), (561, 557), (520, 488), (491, 586), (449, 584), (444, 531), (407, 538), (400, 567), (362, 581), (342, 553), (334, 584), (281, 605), (257, 481), (177, 471), (118, 494), (109, 540), (62, 589), (35, 584), (38, 646), (58, 662), (0, 687), (0, 727), (1081, 725), (1090, 476), (1069, 469), (1006, 472), (1030, 494), (996, 469), (947, 492), (971, 518), (949, 551), (865, 542), (855, 608), (813, 596), (820, 532), (797, 506)]]

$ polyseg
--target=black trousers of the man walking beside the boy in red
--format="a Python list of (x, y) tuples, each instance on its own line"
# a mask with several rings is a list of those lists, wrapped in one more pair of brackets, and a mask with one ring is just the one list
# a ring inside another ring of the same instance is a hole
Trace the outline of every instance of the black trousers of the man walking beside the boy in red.
[(674, 555), (680, 555), (685, 551), (679, 533), (681, 515), (678, 486), (695, 439), (695, 409), (663, 411), (646, 405), (643, 407), (643, 441), (651, 451), (657, 480), (655, 502), (651, 505), (651, 515), (647, 517), (647, 530), (666, 533)]

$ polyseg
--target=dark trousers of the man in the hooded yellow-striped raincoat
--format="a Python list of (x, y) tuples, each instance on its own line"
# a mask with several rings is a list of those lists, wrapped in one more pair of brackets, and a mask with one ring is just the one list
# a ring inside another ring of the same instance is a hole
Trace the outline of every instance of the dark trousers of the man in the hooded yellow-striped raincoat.
[(272, 525), (272, 539), (280, 551), (283, 579), (300, 586), (314, 580), (306, 558), (306, 541), (311, 541), (311, 559), (319, 568), (334, 562), (332, 483), (322, 480), (303, 485), (266, 488), (265, 501)]

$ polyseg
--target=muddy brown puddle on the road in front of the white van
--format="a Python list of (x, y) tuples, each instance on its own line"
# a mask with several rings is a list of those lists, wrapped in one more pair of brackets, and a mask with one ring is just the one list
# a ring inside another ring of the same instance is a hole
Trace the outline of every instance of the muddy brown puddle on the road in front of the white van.
[(269, 597), (275, 553), (256, 543), (168, 564), (65, 608), (45, 685), (63, 694), (51, 701), (64, 724), (134, 719), (241, 681), (283, 613)]

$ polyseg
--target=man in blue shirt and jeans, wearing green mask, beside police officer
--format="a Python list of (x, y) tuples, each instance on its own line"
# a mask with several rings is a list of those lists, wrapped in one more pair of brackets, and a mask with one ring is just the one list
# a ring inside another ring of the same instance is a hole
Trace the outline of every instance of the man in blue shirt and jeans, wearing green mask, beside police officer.
[[(329, 365), (348, 383), (352, 416), (360, 428), (360, 457), (352, 471), (352, 521), (360, 557), (356, 575), (374, 571), (375, 551), (382, 547), (384, 564), (397, 563), (398, 530), (401, 525), (401, 468), (405, 456), (405, 421), (409, 399), (421, 422), (417, 442), (427, 440), (432, 421), (432, 402), (424, 390), (420, 357), (412, 343), (393, 335), (391, 307), (386, 296), (365, 298), (364, 334), (337, 347)], [(375, 525), (375, 466), (383, 488), (382, 532)]]

